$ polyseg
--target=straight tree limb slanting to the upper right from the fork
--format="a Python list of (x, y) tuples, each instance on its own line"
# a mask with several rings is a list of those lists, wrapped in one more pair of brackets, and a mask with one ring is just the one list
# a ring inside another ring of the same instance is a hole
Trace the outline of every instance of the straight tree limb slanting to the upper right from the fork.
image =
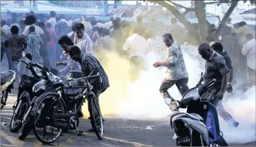
[(230, 18), (231, 13), (237, 6), (238, 0), (232, 1), (230, 8), (228, 8), (228, 11), (225, 13), (224, 17), (221, 20), (221, 24), (219, 25), (217, 31), (214, 34), (214, 40), (215, 42), (219, 40), (219, 35), (221, 35), (221, 29), (222, 26), (226, 26), (226, 21), (228, 21), (228, 18)]

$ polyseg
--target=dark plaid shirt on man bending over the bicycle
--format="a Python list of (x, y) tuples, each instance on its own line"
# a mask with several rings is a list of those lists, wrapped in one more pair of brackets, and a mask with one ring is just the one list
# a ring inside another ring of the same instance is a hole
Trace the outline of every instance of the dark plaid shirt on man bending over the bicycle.
[(99, 76), (101, 76), (102, 83), (100, 81), (100, 78), (92, 78), (92, 80), (89, 80), (95, 91), (103, 90), (110, 87), (110, 84), (108, 83), (108, 76), (106, 75), (103, 67), (101, 66), (97, 58), (95, 58), (95, 56), (89, 55), (87, 53), (82, 53), (79, 63), (81, 64), (82, 73), (84, 74), (84, 76), (88, 76), (92, 71), (94, 71), (94, 69), (94, 73), (92, 73), (90, 76), (94, 76), (97, 73), (99, 73)]

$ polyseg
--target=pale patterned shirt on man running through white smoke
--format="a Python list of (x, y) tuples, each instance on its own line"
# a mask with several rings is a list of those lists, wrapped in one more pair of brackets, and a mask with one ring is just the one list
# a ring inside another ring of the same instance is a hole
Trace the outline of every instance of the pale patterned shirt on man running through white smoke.
[(172, 46), (167, 49), (167, 62), (175, 64), (175, 67), (167, 67), (166, 80), (180, 80), (188, 78), (188, 72), (181, 51), (181, 46), (174, 41)]

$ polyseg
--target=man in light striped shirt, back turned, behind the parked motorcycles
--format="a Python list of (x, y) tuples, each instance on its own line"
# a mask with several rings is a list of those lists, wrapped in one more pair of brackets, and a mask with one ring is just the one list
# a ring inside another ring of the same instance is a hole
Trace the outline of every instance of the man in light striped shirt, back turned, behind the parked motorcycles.
[[(30, 26), (28, 35), (28, 53), (32, 55), (32, 62), (39, 63), (40, 60), (40, 46), (43, 45), (43, 40), (35, 33), (35, 27)], [(27, 59), (28, 62), (28, 59)]]

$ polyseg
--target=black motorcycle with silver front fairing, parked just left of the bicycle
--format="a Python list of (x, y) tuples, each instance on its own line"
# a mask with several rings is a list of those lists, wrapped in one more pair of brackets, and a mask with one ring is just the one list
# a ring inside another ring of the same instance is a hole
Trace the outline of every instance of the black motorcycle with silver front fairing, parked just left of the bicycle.
[[(26, 58), (32, 60), (30, 54), (26, 54)], [(30, 105), (44, 91), (47, 91), (46, 86), (50, 83), (59, 82), (60, 78), (49, 72), (50, 69), (42, 67), (38, 64), (26, 63), (19, 60), (19, 64), (26, 65), (26, 72), (21, 76), (21, 83), (19, 85), (19, 92), (17, 96), (17, 103), (14, 103), (14, 114), (10, 121), (10, 132), (17, 132), (23, 122), (27, 110)], [(52, 69), (53, 71), (53, 69)]]

